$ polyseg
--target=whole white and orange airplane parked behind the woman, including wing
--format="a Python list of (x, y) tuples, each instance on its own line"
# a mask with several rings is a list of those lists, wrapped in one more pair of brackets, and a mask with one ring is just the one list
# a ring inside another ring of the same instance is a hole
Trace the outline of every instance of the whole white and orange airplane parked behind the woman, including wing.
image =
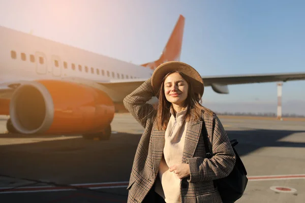
[[(164, 62), (180, 60), (185, 17), (179, 15), (160, 58), (133, 64), (0, 26), (0, 115), (9, 132), (82, 134), (109, 140), (123, 99)], [(202, 76), (228, 94), (228, 85), (304, 80), (305, 73)]]

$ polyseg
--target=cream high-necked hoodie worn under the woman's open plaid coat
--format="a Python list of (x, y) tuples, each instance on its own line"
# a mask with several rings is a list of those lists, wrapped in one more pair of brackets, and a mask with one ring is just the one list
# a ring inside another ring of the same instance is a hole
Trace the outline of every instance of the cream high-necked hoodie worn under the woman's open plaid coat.
[(185, 115), (187, 110), (173, 115), (170, 110), (171, 117), (165, 131), (165, 145), (163, 149), (163, 157), (159, 167), (159, 179), (156, 180), (155, 191), (162, 196), (167, 203), (180, 202), (180, 179), (169, 171), (169, 167), (181, 163), (182, 152), (184, 150), (185, 134), (187, 131), (187, 122)]

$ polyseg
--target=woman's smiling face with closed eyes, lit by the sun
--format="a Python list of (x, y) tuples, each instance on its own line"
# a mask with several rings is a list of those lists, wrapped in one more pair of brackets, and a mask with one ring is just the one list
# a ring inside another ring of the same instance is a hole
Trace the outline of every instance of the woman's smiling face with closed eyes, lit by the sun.
[(188, 97), (189, 85), (179, 73), (172, 73), (164, 81), (166, 99), (175, 105), (182, 106)]

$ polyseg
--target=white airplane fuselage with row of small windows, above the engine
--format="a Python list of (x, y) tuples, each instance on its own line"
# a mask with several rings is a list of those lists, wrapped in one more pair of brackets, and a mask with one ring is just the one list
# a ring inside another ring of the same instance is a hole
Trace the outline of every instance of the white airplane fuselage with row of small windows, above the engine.
[(148, 67), (0, 26), (0, 82), (149, 78)]

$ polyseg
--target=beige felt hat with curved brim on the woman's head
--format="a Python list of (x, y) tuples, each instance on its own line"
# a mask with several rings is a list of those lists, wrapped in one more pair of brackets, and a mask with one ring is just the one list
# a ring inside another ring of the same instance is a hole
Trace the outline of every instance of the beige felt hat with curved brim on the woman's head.
[(199, 93), (200, 97), (203, 95), (204, 83), (200, 74), (191, 65), (180, 61), (168, 61), (156, 68), (153, 76), (151, 76), (151, 86), (153, 86), (155, 92), (159, 91), (166, 74), (172, 71), (179, 71), (185, 74), (188, 80), (191, 81), (194, 92)]

